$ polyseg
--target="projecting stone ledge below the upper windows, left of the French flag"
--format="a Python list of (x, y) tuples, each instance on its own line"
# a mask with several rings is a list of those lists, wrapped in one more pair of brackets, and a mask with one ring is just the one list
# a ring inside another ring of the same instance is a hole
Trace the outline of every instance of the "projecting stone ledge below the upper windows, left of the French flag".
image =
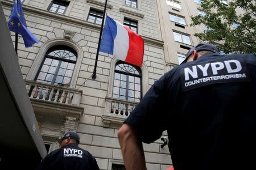
[[(10, 7), (10, 8), (13, 7), (13, 2), (2, 0), (1, 3), (3, 6)], [(22, 8), (25, 13), (34, 14), (36, 16), (40, 15), (42, 18), (49, 18), (52, 20), (60, 20), (61, 22), (65, 22), (65, 23), (69, 23), (69, 24), (76, 24), (76, 25), (79, 25), (80, 27), (87, 27), (90, 29), (97, 29), (98, 31), (100, 31), (100, 29), (101, 29), (101, 25), (93, 24), (93, 23), (90, 23), (90, 22), (87, 22), (87, 21), (81, 20), (81, 19), (72, 18), (70, 16), (55, 14), (53, 12), (41, 10), (39, 8), (34, 8), (31, 6), (27, 6), (27, 5), (23, 5)]]

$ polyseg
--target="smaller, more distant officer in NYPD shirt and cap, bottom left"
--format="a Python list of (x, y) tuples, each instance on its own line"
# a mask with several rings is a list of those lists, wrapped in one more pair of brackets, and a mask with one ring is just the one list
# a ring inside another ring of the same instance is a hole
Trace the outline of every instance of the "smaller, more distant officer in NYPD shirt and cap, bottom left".
[(49, 153), (42, 160), (38, 169), (99, 169), (92, 154), (78, 147), (80, 137), (77, 133), (68, 132), (58, 142), (60, 148)]

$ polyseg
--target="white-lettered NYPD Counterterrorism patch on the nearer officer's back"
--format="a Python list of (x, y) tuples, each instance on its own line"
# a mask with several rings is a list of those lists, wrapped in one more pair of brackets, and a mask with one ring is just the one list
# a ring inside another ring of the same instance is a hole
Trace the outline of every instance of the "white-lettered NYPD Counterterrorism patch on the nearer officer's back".
[(183, 91), (214, 83), (251, 81), (245, 58), (218, 59), (194, 64), (180, 72)]

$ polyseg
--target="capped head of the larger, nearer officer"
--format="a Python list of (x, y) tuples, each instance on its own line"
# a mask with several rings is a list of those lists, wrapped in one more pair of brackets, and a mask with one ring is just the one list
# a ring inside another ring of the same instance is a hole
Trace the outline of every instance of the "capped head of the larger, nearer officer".
[(197, 58), (208, 53), (219, 53), (219, 52), (216, 45), (201, 42), (195, 47), (192, 47), (191, 49), (188, 50), (188, 53), (186, 54), (186, 58), (182, 63), (195, 61)]

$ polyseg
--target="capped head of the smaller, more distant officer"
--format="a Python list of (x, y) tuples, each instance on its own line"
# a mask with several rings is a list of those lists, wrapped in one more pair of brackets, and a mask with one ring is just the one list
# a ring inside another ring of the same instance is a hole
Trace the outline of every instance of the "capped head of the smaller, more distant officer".
[(70, 143), (77, 143), (77, 145), (80, 142), (79, 134), (69, 131), (68, 133), (64, 134), (64, 136), (60, 139), (58, 139), (58, 142), (60, 143), (60, 147), (63, 148)]

